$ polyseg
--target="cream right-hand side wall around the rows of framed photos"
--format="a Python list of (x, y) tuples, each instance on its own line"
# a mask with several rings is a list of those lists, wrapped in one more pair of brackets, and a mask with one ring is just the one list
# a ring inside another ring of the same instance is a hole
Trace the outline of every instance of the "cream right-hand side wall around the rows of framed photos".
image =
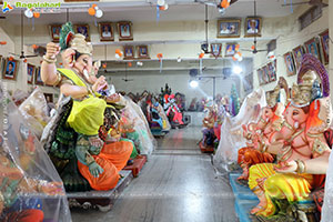
[[(323, 9), (322, 17), (314, 21), (312, 24), (299, 31), (299, 21), (297, 18), (304, 13), (309, 7), (300, 7), (295, 9), (294, 13), (283, 18), (281, 20), (278, 19), (266, 19), (265, 29), (273, 34), (276, 36), (276, 64), (278, 64), (278, 79), (279, 77), (284, 77), (291, 87), (292, 83), (296, 82), (296, 75), (286, 77), (286, 67), (284, 62), (283, 54), (292, 51), (292, 49), (296, 48), (300, 44), (303, 44), (305, 41), (312, 39), (313, 37), (317, 37), (319, 33), (323, 32), (329, 28), (329, 7)], [(331, 13), (332, 14), (332, 13)], [(268, 26), (270, 23), (270, 26)], [(261, 48), (263, 46), (259, 46)], [(332, 49), (332, 48), (331, 48)], [(253, 73), (254, 73), (254, 87), (259, 87), (259, 79), (256, 70), (269, 62), (265, 53), (258, 53), (253, 58)], [(332, 63), (332, 62), (330, 62)], [(329, 68), (329, 67), (326, 67)], [(265, 91), (273, 90), (273, 88), (278, 84), (278, 81), (271, 82), (269, 84), (261, 85)]]

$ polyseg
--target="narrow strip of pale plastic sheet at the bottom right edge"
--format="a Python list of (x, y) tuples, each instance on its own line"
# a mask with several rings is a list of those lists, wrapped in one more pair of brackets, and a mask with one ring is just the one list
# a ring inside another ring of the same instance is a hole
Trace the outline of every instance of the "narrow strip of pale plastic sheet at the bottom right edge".
[(322, 208), (322, 222), (333, 222), (333, 152), (330, 155), (329, 170), (326, 172), (324, 204)]

